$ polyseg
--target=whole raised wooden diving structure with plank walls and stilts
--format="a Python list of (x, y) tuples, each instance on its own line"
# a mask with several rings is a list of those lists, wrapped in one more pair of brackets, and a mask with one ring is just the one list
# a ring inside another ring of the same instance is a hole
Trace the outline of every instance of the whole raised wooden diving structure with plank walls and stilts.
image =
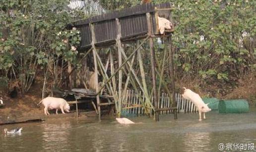
[[(99, 120), (101, 119), (101, 106), (107, 105), (101, 103), (100, 95), (102, 89), (106, 88), (108, 94), (113, 97), (115, 102), (115, 108), (117, 116), (121, 116), (122, 102), (125, 100), (128, 84), (130, 84), (136, 94), (138, 100), (145, 110), (145, 114), (154, 115), (156, 121), (159, 120), (159, 112), (163, 110), (173, 110), (175, 119), (177, 118), (177, 106), (176, 102), (173, 102), (173, 107), (161, 108), (158, 106), (159, 98), (158, 94), (161, 86), (164, 86), (169, 97), (171, 93), (174, 95), (174, 72), (173, 72), (173, 56), (171, 46), (171, 35), (174, 29), (166, 30), (164, 35), (159, 34), (158, 30), (158, 16), (165, 17), (170, 20), (170, 10), (172, 9), (171, 3), (163, 4), (142, 4), (134, 7), (126, 8), (120, 11), (114, 11), (99, 16), (94, 16), (85, 20), (76, 21), (69, 25), (69, 28), (76, 27), (81, 32), (81, 42), (79, 51), (87, 51), (85, 56), (92, 51), (94, 70), (96, 73), (101, 74), (103, 77), (103, 85), (98, 85), (98, 74), (95, 74), (96, 85), (96, 100), (97, 100), (97, 112)], [(168, 42), (165, 49), (165, 54), (169, 54), (170, 61), (170, 77), (173, 80), (172, 91), (170, 91), (167, 83), (163, 79), (164, 63), (168, 60), (163, 60), (161, 64), (155, 56), (153, 38), (166, 38), (165, 42)], [(168, 38), (168, 39), (167, 39)], [(141, 41), (139, 41), (141, 40)], [(142, 45), (149, 40), (150, 48), (150, 60), (151, 60), (151, 73), (152, 73), (152, 91), (149, 92), (149, 87), (146, 84), (145, 72), (143, 67), (143, 59), (141, 57), (141, 50), (144, 49)], [(127, 54), (128, 51), (124, 49), (124, 45), (127, 43), (136, 43), (136, 49)], [(115, 49), (110, 49), (109, 58), (106, 65), (103, 62), (97, 52), (99, 48), (110, 48), (116, 45)], [(169, 50), (169, 53), (166, 52)], [(117, 53), (118, 68), (114, 66), (114, 53)], [(139, 62), (140, 77), (137, 76), (133, 69), (135, 55), (137, 54), (137, 61)], [(108, 64), (110, 62), (111, 75), (107, 74)], [(160, 71), (160, 72), (158, 72)], [(118, 73), (118, 75), (117, 75)], [(123, 84), (123, 74), (126, 75), (125, 85)], [(156, 77), (160, 78), (160, 83), (156, 83)], [(144, 96), (140, 96), (141, 92)], [(143, 98), (143, 99), (142, 99)], [(153, 98), (153, 102), (151, 102)], [(172, 101), (175, 101), (173, 96)]]

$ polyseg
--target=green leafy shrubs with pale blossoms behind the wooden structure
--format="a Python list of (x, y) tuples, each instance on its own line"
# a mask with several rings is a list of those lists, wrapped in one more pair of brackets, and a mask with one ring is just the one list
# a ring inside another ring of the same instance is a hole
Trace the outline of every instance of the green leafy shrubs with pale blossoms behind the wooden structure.
[[(95, 1), (106, 11), (140, 3), (140, 0)], [(67, 61), (73, 65), (78, 63), (79, 32), (66, 29), (66, 25), (97, 12), (86, 14), (82, 9), (66, 9), (68, 2), (0, 1), (0, 76), (15, 78), (23, 92), (30, 88), (38, 67), (50, 71), (54, 81), (62, 81), (59, 63), (62, 64), (61, 70)], [(173, 45), (179, 79), (190, 77), (205, 82), (230, 83), (256, 70), (255, 0), (175, 0), (173, 4)], [(158, 58), (163, 58), (165, 44), (155, 43)], [(148, 48), (148, 45), (143, 47)], [(148, 58), (144, 64), (145, 72), (149, 73), (150, 57), (147, 53), (144, 51), (142, 55)]]

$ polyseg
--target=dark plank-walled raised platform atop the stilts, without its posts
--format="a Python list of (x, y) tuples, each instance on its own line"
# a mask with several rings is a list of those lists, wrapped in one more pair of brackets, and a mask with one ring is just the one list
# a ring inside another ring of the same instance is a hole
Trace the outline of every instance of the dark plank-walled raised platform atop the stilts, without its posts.
[[(92, 33), (95, 34), (95, 47), (109, 47), (116, 44), (118, 39), (118, 25), (121, 27), (121, 41), (144, 39), (148, 34), (146, 13), (150, 13), (152, 24), (152, 35), (159, 35), (158, 18), (164, 17), (170, 20), (172, 4), (170, 2), (161, 4), (141, 4), (126, 9), (93, 16), (84, 20), (79, 20), (69, 24), (68, 28), (73, 27), (80, 30), (81, 42), (78, 50), (84, 51), (91, 48)], [(93, 32), (92, 32), (93, 29)], [(173, 32), (166, 31), (166, 34)]]

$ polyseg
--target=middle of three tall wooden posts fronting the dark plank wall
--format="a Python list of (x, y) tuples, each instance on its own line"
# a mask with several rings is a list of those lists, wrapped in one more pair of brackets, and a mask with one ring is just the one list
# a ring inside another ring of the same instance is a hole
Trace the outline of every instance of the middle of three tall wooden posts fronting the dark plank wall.
[[(121, 50), (124, 50), (121, 43), (121, 25), (119, 24), (119, 19), (116, 18), (116, 26), (117, 26), (117, 47), (118, 47), (118, 67), (120, 68), (122, 65), (122, 53)], [(122, 69), (119, 70), (118, 73), (118, 117), (121, 117), (121, 107), (122, 107)]]

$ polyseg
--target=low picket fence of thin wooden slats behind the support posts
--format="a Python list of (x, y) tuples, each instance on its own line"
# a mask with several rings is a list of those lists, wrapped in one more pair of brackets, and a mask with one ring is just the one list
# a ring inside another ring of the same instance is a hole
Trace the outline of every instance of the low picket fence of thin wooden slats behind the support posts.
[[(139, 92), (140, 97), (145, 101), (144, 95)], [(181, 94), (175, 94), (176, 95), (176, 103), (178, 107), (178, 112), (185, 112), (185, 113), (196, 113), (197, 108), (195, 105), (188, 100), (185, 100), (182, 98)], [(153, 97), (151, 98), (151, 103), (153, 103)], [(170, 100), (168, 94), (162, 93), (159, 98), (158, 102), (158, 108), (167, 108), (172, 107), (172, 101)], [(127, 113), (129, 115), (144, 115), (144, 107), (139, 101), (139, 96), (135, 93), (134, 90), (127, 90), (126, 97), (124, 98), (124, 101), (122, 102), (122, 111), (123, 113)], [(173, 110), (165, 110), (160, 111), (159, 114), (168, 114), (172, 113)]]

